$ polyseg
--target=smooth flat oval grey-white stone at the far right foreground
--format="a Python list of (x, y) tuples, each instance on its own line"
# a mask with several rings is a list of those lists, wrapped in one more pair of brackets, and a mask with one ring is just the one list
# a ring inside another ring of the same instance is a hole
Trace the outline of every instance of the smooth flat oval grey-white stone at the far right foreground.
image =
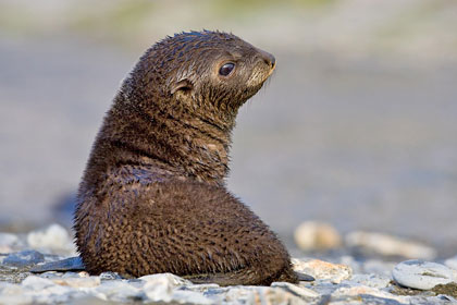
[(437, 284), (456, 281), (453, 271), (446, 266), (418, 259), (396, 265), (392, 276), (398, 284), (419, 290), (430, 290)]

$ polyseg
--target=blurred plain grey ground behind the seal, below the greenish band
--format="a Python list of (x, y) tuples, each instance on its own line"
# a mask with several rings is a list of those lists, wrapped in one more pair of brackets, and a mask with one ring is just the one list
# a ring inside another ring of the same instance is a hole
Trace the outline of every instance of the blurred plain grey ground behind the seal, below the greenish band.
[[(286, 237), (318, 219), (455, 253), (457, 65), (269, 51), (277, 71), (239, 113), (230, 188)], [(65, 222), (54, 207), (138, 57), (0, 39), (0, 223)]]

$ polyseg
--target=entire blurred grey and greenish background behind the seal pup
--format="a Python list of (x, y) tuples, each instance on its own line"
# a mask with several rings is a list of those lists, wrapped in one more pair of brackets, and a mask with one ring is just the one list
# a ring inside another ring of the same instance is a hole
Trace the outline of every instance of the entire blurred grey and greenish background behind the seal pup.
[(158, 39), (202, 28), (276, 57), (227, 182), (289, 247), (321, 220), (457, 252), (450, 0), (0, 0), (0, 231), (70, 227), (121, 80)]

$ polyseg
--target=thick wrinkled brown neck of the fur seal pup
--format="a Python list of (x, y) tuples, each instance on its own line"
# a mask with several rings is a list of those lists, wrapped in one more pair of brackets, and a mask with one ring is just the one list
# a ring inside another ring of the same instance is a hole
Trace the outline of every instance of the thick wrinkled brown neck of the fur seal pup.
[[(190, 113), (188, 108), (161, 105), (165, 107), (145, 110), (120, 93), (97, 137), (88, 168), (106, 171), (109, 167), (140, 166), (223, 185), (234, 118), (230, 122), (205, 109)], [(97, 158), (107, 155), (108, 159)]]

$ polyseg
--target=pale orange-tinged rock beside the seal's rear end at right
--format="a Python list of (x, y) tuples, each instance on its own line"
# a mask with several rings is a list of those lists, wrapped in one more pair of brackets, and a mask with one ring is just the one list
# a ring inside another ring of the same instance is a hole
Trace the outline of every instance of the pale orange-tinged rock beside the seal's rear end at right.
[(310, 274), (316, 279), (330, 280), (333, 283), (339, 283), (343, 280), (350, 279), (353, 270), (349, 266), (332, 264), (319, 259), (292, 259), (294, 271)]

